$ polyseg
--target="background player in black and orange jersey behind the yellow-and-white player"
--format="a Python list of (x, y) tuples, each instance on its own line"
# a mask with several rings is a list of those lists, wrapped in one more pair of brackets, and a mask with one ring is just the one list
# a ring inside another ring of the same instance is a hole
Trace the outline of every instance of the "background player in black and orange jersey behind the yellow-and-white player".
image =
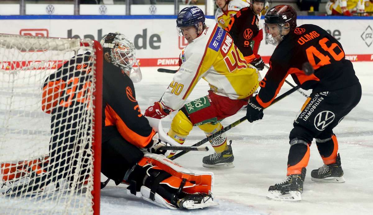
[(264, 69), (264, 62), (258, 55), (258, 50), (260, 41), (263, 40), (263, 29), (259, 20), (265, 4), (266, 0), (251, 0), (250, 6), (239, 10), (225, 28), (244, 55), (246, 62), (258, 70)]

